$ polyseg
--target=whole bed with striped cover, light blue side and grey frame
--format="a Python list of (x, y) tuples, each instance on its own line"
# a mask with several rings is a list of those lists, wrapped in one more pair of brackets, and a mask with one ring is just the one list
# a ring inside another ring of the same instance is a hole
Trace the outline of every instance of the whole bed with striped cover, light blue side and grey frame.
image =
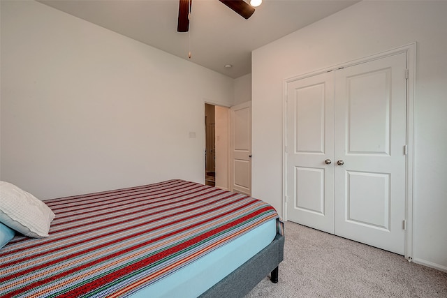
[(243, 297), (278, 280), (281, 221), (247, 195), (173, 179), (45, 204), (50, 236), (0, 249), (1, 297)]

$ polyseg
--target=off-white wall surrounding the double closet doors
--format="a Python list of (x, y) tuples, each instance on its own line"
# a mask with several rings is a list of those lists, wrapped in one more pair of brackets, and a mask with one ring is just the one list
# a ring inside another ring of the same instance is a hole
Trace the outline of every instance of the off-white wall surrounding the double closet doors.
[(447, 271), (447, 1), (362, 1), (252, 53), (252, 194), (282, 211), (283, 81), (417, 42), (413, 260)]

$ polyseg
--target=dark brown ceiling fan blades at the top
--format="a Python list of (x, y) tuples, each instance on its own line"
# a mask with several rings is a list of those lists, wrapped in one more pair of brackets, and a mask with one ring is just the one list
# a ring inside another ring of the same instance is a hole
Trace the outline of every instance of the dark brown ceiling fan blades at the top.
[[(254, 7), (244, 0), (219, 0), (236, 13), (248, 19), (254, 13)], [(191, 11), (192, 0), (179, 0), (179, 20), (177, 22), (178, 32), (188, 32), (189, 13)]]

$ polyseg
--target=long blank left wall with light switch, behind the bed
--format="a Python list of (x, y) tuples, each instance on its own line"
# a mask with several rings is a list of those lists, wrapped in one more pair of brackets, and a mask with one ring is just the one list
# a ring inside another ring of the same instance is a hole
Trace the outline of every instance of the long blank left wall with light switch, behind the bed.
[(204, 100), (233, 96), (212, 70), (42, 3), (1, 1), (0, 178), (38, 198), (203, 183)]

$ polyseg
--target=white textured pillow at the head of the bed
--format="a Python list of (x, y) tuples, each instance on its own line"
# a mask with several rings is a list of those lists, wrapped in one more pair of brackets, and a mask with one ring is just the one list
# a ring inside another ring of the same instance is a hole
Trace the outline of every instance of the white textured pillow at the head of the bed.
[(0, 181), (0, 222), (28, 237), (48, 237), (54, 213), (17, 186)]

